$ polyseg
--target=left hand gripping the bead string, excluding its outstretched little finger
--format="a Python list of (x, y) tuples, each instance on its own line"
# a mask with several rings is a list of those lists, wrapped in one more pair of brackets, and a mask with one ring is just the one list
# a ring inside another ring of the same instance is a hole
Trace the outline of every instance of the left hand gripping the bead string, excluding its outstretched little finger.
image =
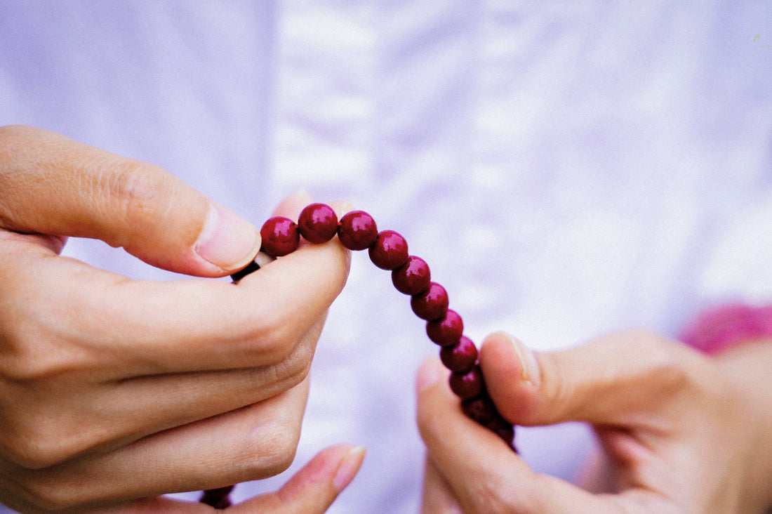
[(286, 468), (347, 251), (306, 245), (238, 285), (132, 281), (59, 256), (66, 236), (205, 277), (260, 244), (168, 172), (0, 128), (0, 501), (84, 512)]

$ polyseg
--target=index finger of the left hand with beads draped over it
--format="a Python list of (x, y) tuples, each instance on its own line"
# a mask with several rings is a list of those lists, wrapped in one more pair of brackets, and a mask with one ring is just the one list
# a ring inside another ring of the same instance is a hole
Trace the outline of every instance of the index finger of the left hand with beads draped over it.
[[(30, 375), (71, 368), (73, 362), (95, 369), (107, 365), (121, 376), (276, 363), (326, 313), (344, 287), (350, 262), (337, 242), (307, 245), (234, 286), (130, 281), (77, 260), (53, 262), (47, 250), (2, 251), (2, 288), (30, 298), (0, 297), (3, 315), (15, 320), (4, 327), (11, 331), (6, 339), (23, 346), (31, 337), (23, 328), (41, 327), (32, 348), (15, 354), (15, 369), (32, 366)], [(85, 315), (73, 316), (78, 312)], [(76, 344), (62, 352), (27, 354), (43, 343), (63, 341)]]

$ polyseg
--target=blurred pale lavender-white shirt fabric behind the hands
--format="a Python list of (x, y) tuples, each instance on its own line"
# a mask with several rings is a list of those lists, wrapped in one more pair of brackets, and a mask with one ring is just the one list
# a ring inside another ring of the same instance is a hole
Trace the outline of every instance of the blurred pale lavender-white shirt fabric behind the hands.
[[(772, 298), (770, 42), (764, 0), (0, 2), (0, 124), (161, 165), (257, 225), (297, 189), (352, 199), (428, 261), (476, 342), (556, 349)], [(173, 278), (98, 242), (65, 253)], [(417, 509), (413, 380), (435, 352), (355, 255), (288, 471), (367, 445), (330, 512)], [(589, 444), (518, 431), (564, 478)]]

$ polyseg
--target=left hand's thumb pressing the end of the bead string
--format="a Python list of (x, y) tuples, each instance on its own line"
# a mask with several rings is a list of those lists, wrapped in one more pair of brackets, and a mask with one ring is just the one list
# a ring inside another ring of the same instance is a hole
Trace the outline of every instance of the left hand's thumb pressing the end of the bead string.
[(257, 254), (259, 231), (163, 169), (37, 128), (0, 128), (0, 226), (90, 237), (148, 264), (222, 276)]

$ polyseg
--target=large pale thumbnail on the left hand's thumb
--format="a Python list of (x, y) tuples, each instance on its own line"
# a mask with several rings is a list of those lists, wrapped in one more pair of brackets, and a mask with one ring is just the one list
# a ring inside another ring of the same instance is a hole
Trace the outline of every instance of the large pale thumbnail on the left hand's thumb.
[(252, 223), (210, 203), (204, 229), (194, 249), (222, 270), (237, 270), (248, 264), (260, 250), (260, 233)]

